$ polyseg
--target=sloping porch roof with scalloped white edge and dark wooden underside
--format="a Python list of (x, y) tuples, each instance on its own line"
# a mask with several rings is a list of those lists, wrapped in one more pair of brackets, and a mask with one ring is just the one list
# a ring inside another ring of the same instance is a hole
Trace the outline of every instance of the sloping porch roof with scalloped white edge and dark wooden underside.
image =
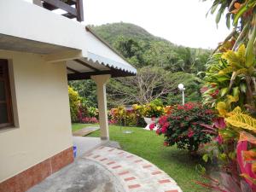
[(91, 75), (111, 74), (111, 77), (136, 75), (137, 70), (106, 41), (86, 27), (88, 50), (84, 58), (67, 61), (68, 80), (90, 79)]

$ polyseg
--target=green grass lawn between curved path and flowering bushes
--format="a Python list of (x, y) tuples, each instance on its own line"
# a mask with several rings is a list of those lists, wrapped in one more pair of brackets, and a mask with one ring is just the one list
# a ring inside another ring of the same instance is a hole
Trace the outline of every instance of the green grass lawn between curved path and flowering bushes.
[[(131, 134), (122, 132), (130, 130), (133, 131)], [(164, 137), (157, 136), (154, 131), (137, 127), (122, 127), (120, 131), (119, 126), (111, 125), (109, 134), (110, 139), (119, 142), (125, 151), (137, 154), (165, 171), (183, 192), (208, 191), (193, 183), (193, 180), (202, 180), (200, 174), (195, 171), (195, 165), (201, 163), (200, 160), (191, 159), (185, 150), (163, 146)], [(91, 133), (88, 137), (99, 137), (99, 131)]]

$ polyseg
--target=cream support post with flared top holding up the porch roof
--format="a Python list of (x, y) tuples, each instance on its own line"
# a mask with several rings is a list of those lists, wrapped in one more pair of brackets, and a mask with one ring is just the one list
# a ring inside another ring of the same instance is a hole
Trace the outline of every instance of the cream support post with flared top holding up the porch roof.
[(90, 76), (90, 79), (93, 79), (96, 82), (96, 93), (102, 140), (109, 140), (106, 84), (110, 77), (110, 74)]

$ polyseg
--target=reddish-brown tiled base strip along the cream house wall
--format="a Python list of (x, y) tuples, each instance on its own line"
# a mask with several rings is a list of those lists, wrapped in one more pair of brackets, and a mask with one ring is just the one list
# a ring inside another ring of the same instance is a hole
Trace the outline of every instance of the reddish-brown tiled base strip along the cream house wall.
[(73, 147), (67, 148), (47, 160), (18, 173), (14, 177), (0, 183), (0, 192), (25, 192), (32, 186), (42, 182), (46, 177), (72, 163)]

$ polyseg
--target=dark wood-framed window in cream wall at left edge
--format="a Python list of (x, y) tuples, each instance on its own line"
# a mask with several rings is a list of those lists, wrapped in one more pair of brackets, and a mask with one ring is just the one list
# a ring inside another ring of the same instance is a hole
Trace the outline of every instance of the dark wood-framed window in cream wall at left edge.
[(0, 59), (0, 128), (14, 125), (8, 61)]

